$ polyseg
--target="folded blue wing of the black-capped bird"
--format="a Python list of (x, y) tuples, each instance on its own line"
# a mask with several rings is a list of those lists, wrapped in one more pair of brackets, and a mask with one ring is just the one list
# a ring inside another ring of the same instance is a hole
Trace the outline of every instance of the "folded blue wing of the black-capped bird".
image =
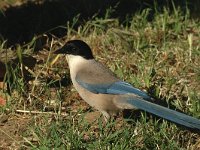
[(141, 96), (144, 99), (150, 99), (150, 97), (143, 91), (134, 88), (127, 82), (118, 81), (114, 83), (108, 84), (90, 84), (81, 81), (80, 79), (76, 78), (76, 81), (85, 89), (93, 93), (101, 93), (101, 94), (135, 94)]

